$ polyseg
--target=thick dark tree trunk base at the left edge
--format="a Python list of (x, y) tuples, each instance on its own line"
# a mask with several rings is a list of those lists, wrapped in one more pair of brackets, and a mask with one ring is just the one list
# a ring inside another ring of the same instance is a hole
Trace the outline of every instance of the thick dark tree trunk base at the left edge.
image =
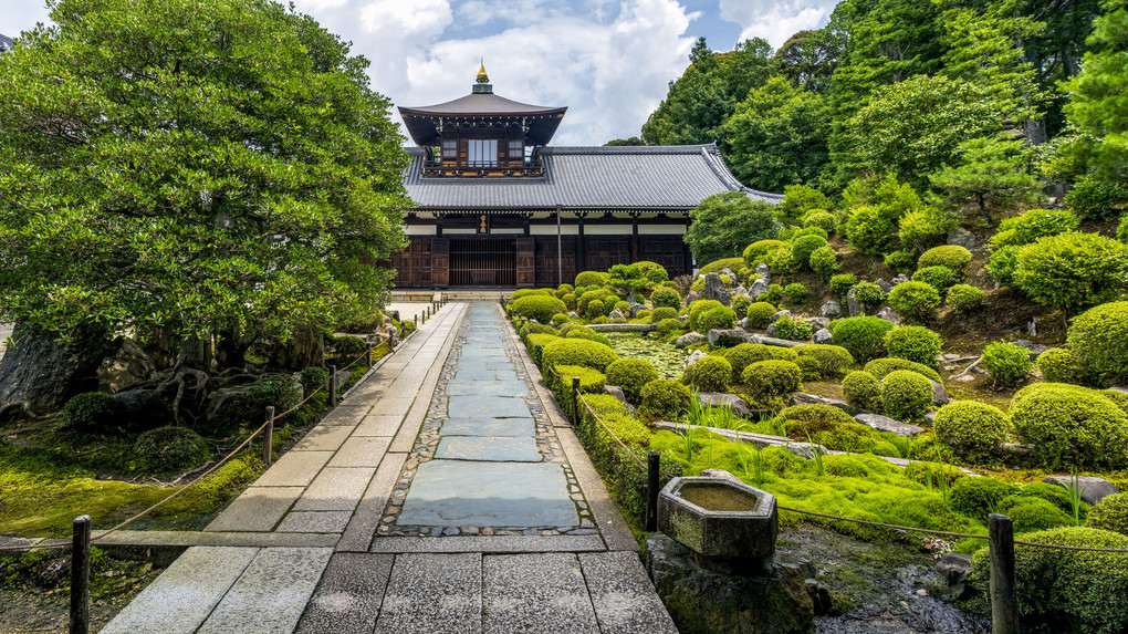
[(115, 352), (113, 336), (92, 328), (60, 340), (17, 324), (12, 341), (0, 359), (0, 403), (26, 402), (36, 410), (58, 410), (80, 391), (97, 390), (98, 367)]

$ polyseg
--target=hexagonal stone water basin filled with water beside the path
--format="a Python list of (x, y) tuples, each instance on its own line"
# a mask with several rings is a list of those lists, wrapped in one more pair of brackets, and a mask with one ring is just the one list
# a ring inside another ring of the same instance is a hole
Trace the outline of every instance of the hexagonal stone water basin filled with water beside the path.
[(658, 529), (702, 563), (756, 562), (775, 553), (775, 495), (723, 477), (676, 477), (658, 496)]

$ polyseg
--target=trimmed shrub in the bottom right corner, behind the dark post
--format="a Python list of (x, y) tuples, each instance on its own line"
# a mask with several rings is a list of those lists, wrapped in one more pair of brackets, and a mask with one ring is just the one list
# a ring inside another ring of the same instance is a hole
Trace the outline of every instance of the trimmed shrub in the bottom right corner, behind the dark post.
[[(1023, 541), (1054, 546), (1128, 549), (1128, 536), (1085, 527), (1028, 534)], [(986, 589), (990, 554), (972, 558), (971, 582)], [(1015, 546), (1019, 611), (1051, 632), (1117, 634), (1128, 624), (1128, 554)]]

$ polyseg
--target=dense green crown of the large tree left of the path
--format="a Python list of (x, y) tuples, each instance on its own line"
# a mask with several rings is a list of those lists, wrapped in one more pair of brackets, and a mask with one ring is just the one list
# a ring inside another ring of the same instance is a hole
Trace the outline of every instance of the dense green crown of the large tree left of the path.
[(283, 338), (379, 310), (411, 201), (367, 61), (275, 2), (51, 9), (0, 63), (2, 320)]

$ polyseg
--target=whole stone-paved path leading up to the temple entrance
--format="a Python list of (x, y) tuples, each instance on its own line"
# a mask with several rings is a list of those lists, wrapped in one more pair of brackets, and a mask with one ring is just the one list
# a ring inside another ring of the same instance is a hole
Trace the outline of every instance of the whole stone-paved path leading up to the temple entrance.
[(106, 633), (676, 633), (495, 303), (450, 303)]

